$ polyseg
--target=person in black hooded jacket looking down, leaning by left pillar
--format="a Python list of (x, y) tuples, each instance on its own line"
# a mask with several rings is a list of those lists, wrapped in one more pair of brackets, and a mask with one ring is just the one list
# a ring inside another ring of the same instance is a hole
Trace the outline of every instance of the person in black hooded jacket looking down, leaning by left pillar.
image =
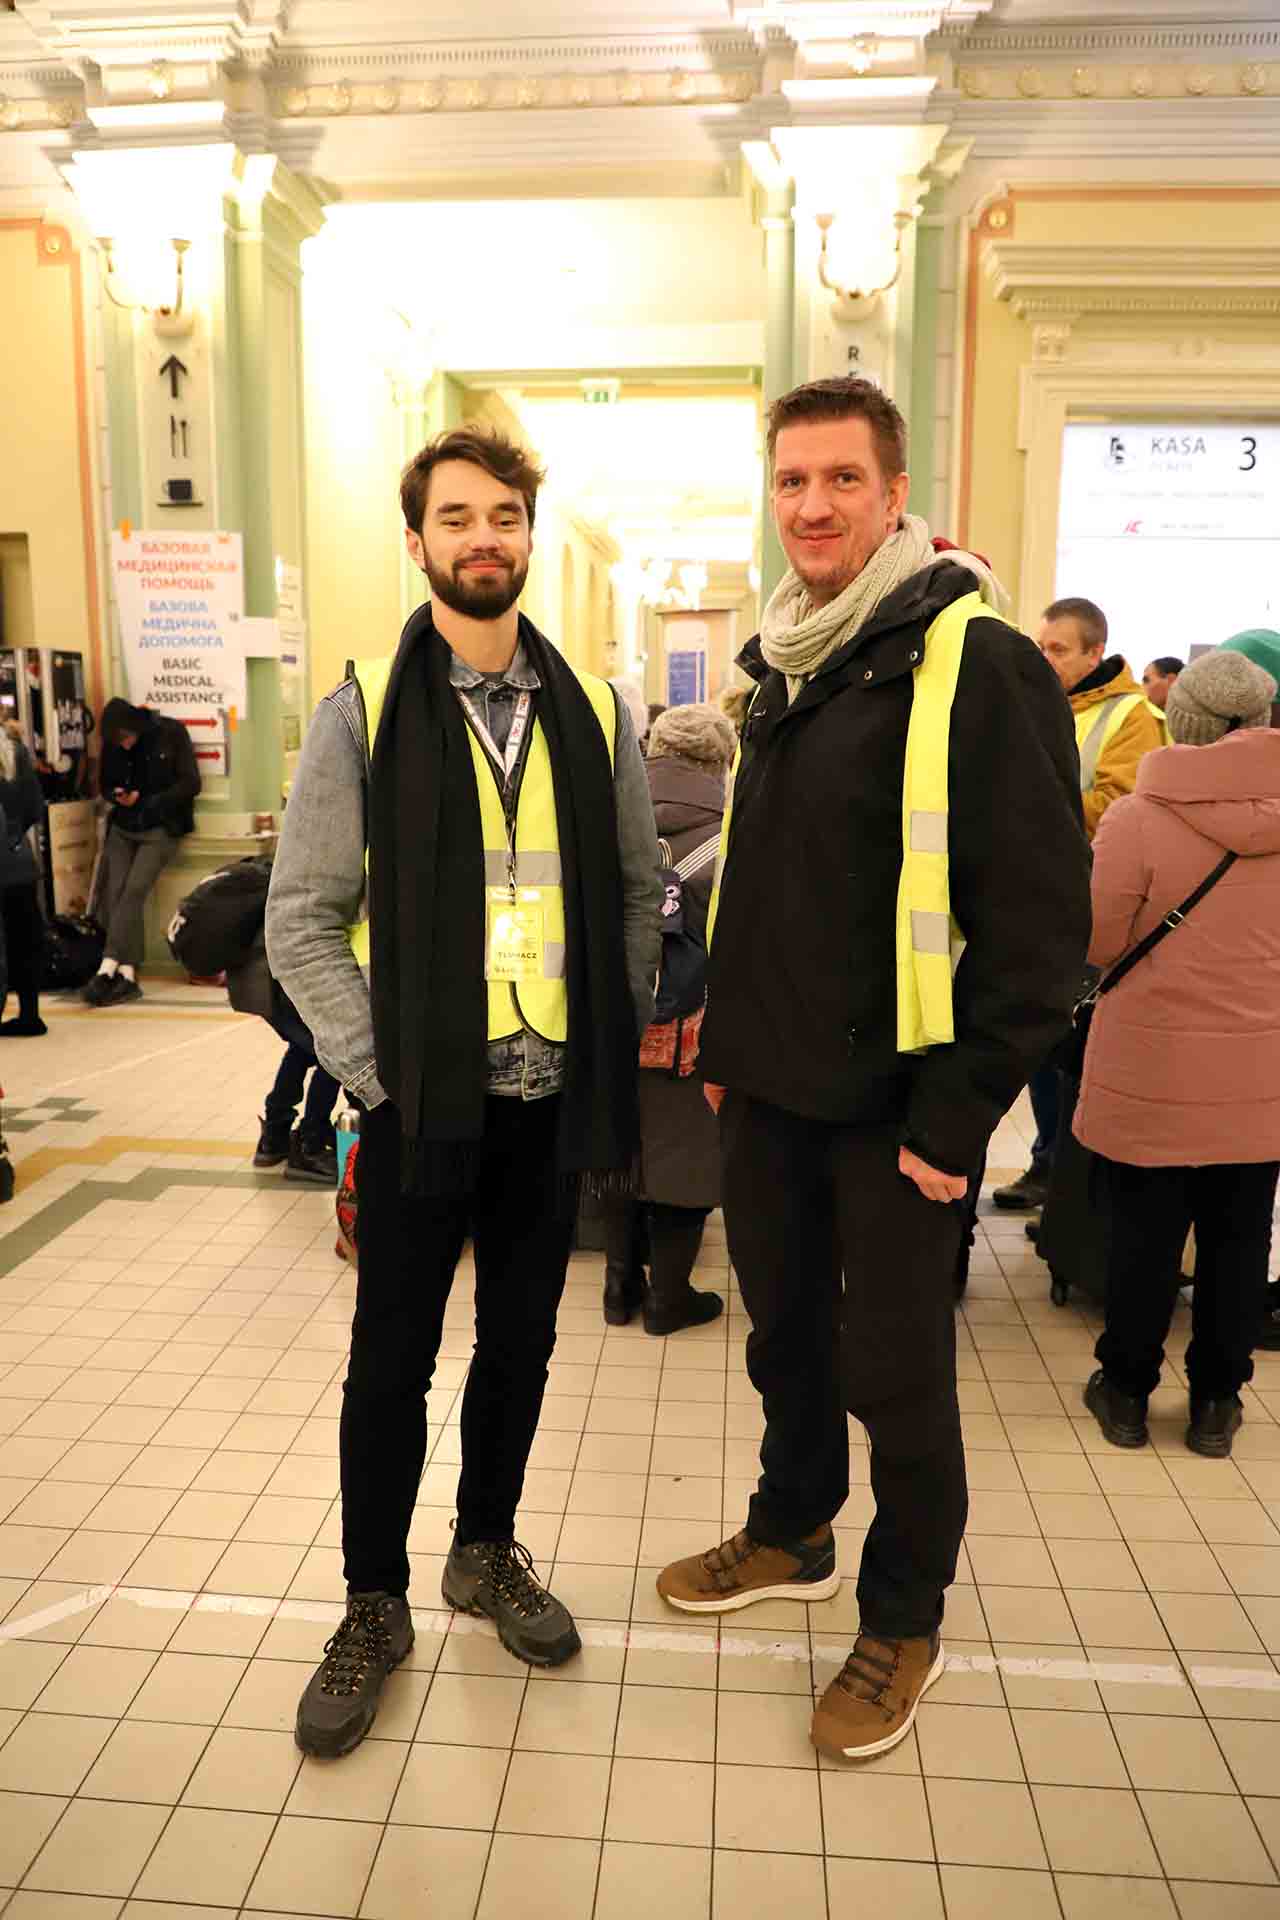
[(194, 831), (200, 768), (180, 720), (107, 701), (102, 712), (100, 793), (111, 801), (96, 910), (107, 929), (102, 968), (84, 987), (88, 1006), (140, 1000), (144, 908), (178, 841)]

